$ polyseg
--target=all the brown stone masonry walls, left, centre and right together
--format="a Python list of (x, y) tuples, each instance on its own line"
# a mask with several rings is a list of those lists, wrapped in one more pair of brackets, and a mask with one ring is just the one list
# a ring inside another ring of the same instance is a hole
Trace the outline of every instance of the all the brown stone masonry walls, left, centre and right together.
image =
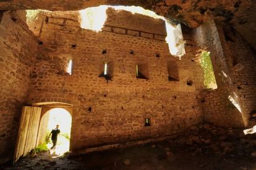
[[(111, 8), (107, 15), (96, 32), (80, 27), (78, 11), (42, 12), (28, 25), (25, 11), (0, 11), (0, 162), (12, 158), (22, 105), (72, 105), (74, 152), (168, 137), (203, 121), (254, 123), (255, 53), (237, 31), (216, 20), (182, 25), (186, 54), (178, 59), (163, 20)], [(203, 85), (199, 49), (211, 52), (218, 89)], [(111, 79), (100, 76), (105, 63)], [(147, 79), (137, 78), (137, 65)]]

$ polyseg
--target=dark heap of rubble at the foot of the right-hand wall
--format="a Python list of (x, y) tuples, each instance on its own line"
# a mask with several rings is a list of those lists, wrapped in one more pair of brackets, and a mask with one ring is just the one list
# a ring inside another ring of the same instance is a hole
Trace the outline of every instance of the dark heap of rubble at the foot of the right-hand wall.
[(256, 134), (245, 135), (244, 129), (225, 129), (211, 124), (192, 126), (186, 132), (169, 140), (174, 145), (184, 145), (197, 153), (256, 157)]

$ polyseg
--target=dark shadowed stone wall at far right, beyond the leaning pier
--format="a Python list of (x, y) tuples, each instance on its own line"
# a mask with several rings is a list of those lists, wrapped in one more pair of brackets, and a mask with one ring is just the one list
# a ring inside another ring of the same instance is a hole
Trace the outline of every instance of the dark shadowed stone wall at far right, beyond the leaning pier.
[(224, 34), (231, 79), (234, 91), (239, 96), (245, 124), (254, 126), (256, 119), (252, 117), (252, 113), (256, 111), (256, 55), (241, 34), (230, 29), (224, 30)]

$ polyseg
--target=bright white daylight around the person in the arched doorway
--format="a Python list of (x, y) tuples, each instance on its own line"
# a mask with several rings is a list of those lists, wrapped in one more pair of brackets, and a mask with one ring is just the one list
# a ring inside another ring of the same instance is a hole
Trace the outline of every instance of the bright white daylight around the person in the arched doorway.
[[(58, 136), (56, 148), (50, 150), (51, 154), (62, 156), (64, 153), (69, 152), (71, 121), (72, 118), (70, 113), (63, 108), (54, 108), (49, 111), (48, 131), (51, 132), (52, 129), (55, 129), (56, 124), (59, 124), (59, 129), (61, 131)], [(47, 144), (48, 149), (52, 146), (52, 143)], [(58, 156), (53, 156), (53, 158)]]

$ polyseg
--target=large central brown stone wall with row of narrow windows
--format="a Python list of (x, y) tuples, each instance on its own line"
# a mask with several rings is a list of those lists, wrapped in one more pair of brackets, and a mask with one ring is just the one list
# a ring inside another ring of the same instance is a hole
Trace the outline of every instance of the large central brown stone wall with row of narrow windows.
[[(136, 21), (130, 12), (121, 14)], [(111, 15), (108, 17), (111, 20)], [(158, 26), (148, 29), (165, 29), (161, 20), (140, 16), (143, 17), (144, 23)], [(122, 20), (116, 20), (116, 25), (115, 20), (111, 21), (113, 26), (119, 26)], [(137, 27), (148, 26), (144, 23)], [(191, 31), (184, 38), (192, 42)], [(198, 91), (203, 88), (203, 71), (192, 62), (192, 44), (187, 44), (187, 54), (179, 60), (169, 54), (164, 40), (115, 31), (97, 33), (81, 29), (78, 22), (50, 15), (39, 39), (42, 44), (28, 102), (73, 105), (72, 150), (169, 136), (202, 121)], [(72, 75), (60, 73), (65, 69), (61, 68), (65, 57), (74, 60)], [(113, 61), (112, 81), (99, 77), (106, 60)], [(169, 61), (177, 64), (179, 81), (168, 81)], [(138, 63), (147, 63), (148, 80), (136, 78)], [(192, 86), (187, 85), (187, 79), (192, 80)], [(145, 126), (146, 118), (150, 118), (151, 126)]]

